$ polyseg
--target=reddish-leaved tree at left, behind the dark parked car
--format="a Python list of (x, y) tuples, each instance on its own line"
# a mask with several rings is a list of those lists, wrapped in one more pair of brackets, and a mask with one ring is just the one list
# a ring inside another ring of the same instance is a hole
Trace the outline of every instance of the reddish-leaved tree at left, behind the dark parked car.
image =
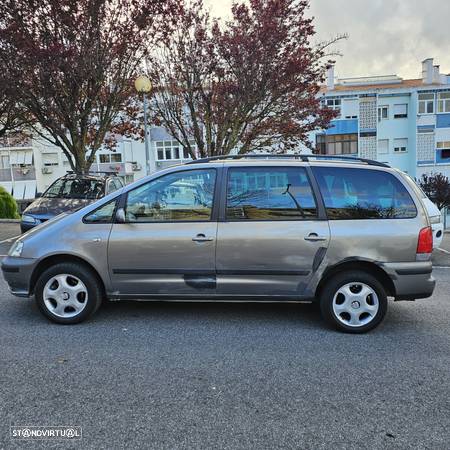
[(172, 12), (169, 0), (2, 2), (2, 70), (33, 131), (74, 171), (88, 171), (102, 144), (114, 148), (116, 133), (134, 133), (133, 81)]

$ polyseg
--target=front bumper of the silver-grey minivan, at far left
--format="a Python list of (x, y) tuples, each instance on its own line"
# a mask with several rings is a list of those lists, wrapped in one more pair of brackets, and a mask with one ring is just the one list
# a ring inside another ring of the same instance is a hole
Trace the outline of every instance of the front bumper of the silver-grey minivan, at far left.
[(30, 297), (31, 276), (37, 260), (33, 258), (14, 258), (7, 256), (3, 259), (1, 269), (8, 283), (9, 290), (17, 297)]

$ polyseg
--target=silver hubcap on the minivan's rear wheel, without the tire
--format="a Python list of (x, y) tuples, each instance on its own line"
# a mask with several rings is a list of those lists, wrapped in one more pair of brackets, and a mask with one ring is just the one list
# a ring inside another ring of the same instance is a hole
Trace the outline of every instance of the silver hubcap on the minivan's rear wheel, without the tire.
[(371, 322), (379, 306), (376, 292), (361, 282), (345, 284), (333, 298), (334, 315), (350, 327), (361, 327)]

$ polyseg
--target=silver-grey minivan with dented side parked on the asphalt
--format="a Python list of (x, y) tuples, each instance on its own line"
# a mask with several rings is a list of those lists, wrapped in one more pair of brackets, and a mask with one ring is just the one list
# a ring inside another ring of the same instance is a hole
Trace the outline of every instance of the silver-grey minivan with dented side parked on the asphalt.
[(358, 158), (244, 155), (155, 173), (23, 235), (11, 292), (57, 323), (102, 299), (318, 302), (361, 333), (388, 297), (430, 297), (433, 237), (395, 169)]

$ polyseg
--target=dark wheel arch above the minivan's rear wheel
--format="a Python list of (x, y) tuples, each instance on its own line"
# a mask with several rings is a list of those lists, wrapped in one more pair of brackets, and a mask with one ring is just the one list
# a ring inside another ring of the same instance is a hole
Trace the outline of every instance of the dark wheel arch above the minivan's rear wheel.
[(325, 272), (316, 288), (316, 298), (320, 298), (321, 290), (328, 280), (339, 273), (351, 270), (364, 271), (374, 276), (386, 289), (386, 293), (389, 297), (396, 296), (394, 282), (376, 262), (365, 259), (349, 259), (325, 269)]

